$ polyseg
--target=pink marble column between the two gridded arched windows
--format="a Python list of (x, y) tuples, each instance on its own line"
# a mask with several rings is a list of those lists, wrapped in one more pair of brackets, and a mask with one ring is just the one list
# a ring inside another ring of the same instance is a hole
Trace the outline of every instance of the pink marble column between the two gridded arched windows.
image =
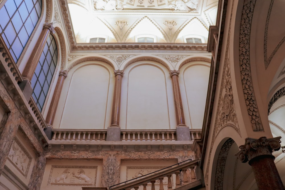
[(36, 45), (32, 50), (27, 65), (25, 66), (25, 69), (22, 73), (24, 79), (27, 79), (28, 81), (32, 80), (32, 77), (40, 60), (42, 51), (44, 50), (44, 46), (46, 44), (48, 36), (50, 35), (50, 32), (52, 32), (53, 34), (55, 33), (54, 27), (52, 27), (52, 23), (45, 23), (42, 29), (42, 33), (40, 34), (38, 41), (36, 42)]

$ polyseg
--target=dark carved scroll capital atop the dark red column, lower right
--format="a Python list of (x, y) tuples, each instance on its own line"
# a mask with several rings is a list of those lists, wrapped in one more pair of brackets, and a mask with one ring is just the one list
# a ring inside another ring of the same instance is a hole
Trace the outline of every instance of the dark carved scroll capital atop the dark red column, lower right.
[(275, 138), (266, 138), (263, 136), (259, 139), (246, 138), (245, 145), (239, 146), (241, 150), (235, 155), (238, 156), (239, 160), (243, 163), (257, 156), (272, 155), (273, 150), (277, 151), (281, 147), (280, 138), (280, 136)]

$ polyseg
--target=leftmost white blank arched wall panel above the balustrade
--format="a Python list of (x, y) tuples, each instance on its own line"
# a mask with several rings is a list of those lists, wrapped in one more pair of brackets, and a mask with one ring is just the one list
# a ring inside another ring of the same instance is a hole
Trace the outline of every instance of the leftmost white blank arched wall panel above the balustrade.
[(110, 124), (114, 75), (109, 65), (85, 62), (66, 77), (54, 128), (104, 129)]

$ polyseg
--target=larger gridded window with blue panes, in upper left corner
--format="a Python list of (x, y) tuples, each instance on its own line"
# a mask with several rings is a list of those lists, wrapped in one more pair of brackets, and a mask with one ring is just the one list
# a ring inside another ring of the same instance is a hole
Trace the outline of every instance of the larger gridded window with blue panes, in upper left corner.
[(21, 56), (41, 12), (41, 0), (7, 0), (0, 9), (0, 33), (15, 62)]

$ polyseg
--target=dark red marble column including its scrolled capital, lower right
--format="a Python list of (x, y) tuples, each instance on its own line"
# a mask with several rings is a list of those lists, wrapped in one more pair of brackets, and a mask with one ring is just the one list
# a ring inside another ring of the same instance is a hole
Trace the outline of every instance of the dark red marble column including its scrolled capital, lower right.
[(273, 150), (281, 147), (280, 138), (246, 138), (245, 145), (241, 145), (241, 150), (236, 154), (241, 162), (249, 161), (259, 190), (285, 189), (272, 155)]

